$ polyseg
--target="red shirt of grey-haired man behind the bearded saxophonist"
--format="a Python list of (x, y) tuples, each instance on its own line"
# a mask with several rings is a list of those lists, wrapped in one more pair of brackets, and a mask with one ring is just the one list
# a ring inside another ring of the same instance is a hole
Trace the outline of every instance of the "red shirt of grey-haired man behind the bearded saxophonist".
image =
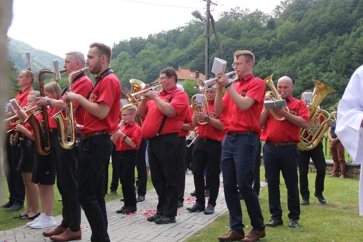
[[(78, 76), (77, 76), (78, 77)], [(77, 78), (76, 77), (76, 78)], [(76, 94), (81, 95), (82, 97), (87, 97), (87, 95), (89, 94), (89, 92), (92, 90), (93, 87), (93, 83), (90, 80), (90, 78), (87, 75), (83, 75), (82, 77), (80, 77), (78, 80), (76, 80), (73, 83), (73, 92)], [(63, 100), (64, 102), (66, 102), (64, 100), (64, 96), (62, 96), (60, 98), (60, 100)], [(74, 101), (73, 102), (75, 105), (75, 110), (77, 109), (79, 103)], [(83, 125), (84, 124), (84, 116), (86, 114), (86, 109), (84, 109), (83, 107), (81, 107), (80, 109), (78, 109), (76, 111), (75, 117), (76, 117), (76, 122), (79, 125)], [(65, 113), (63, 112), (63, 115), (65, 115)]]

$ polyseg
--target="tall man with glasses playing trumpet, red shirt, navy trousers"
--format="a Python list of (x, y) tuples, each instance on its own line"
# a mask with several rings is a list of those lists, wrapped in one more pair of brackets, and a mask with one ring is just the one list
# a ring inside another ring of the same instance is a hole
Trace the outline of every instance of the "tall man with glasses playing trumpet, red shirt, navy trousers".
[[(265, 224), (255, 189), (252, 187), (258, 139), (261, 132), (258, 126), (262, 112), (266, 86), (261, 79), (254, 77), (252, 68), (255, 56), (248, 50), (234, 53), (234, 70), (239, 79), (229, 83), (224, 73), (217, 73), (222, 85), (217, 89), (215, 113), (224, 113), (224, 129), (227, 135), (222, 142), (222, 171), (224, 192), (229, 210), (231, 230), (221, 241), (257, 241), (265, 237)], [(226, 94), (222, 99), (223, 87)], [(242, 224), (240, 190), (248, 215), (251, 219), (251, 232), (245, 237)]]

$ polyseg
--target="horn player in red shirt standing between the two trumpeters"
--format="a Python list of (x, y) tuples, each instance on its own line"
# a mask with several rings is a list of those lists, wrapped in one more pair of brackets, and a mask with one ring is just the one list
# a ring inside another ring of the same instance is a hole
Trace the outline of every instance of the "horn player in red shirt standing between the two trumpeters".
[[(213, 83), (214, 84), (214, 83)], [(210, 116), (205, 111), (197, 112), (193, 114), (193, 126), (198, 127), (199, 138), (197, 138), (192, 158), (193, 158), (193, 175), (194, 186), (196, 188), (197, 201), (193, 207), (187, 208), (188, 211), (204, 211), (205, 214), (212, 214), (216, 205), (216, 200), (219, 192), (219, 175), (221, 164), (222, 146), (221, 142), (226, 136), (226, 132), (223, 129), (223, 116), (218, 115), (214, 111), (214, 98), (216, 90), (206, 90)], [(197, 120), (204, 120), (208, 122), (206, 125), (199, 125)], [(207, 209), (205, 208), (205, 184), (204, 184), (204, 169), (207, 169), (209, 178), (209, 199)]]

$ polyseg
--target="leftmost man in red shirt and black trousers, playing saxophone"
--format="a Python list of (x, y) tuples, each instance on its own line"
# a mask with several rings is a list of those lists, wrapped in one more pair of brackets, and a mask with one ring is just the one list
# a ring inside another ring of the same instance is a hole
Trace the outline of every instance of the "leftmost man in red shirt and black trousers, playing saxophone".
[[(16, 95), (15, 99), (20, 107), (24, 107), (28, 102), (28, 95), (34, 90), (31, 88), (34, 83), (35, 76), (30, 70), (22, 70), (18, 76), (17, 85), (20, 87), (21, 91)], [(7, 117), (12, 116), (12, 113), (8, 113)], [(15, 126), (8, 125), (8, 129), (14, 129)], [(8, 182), (9, 188), (9, 201), (3, 205), (1, 208), (7, 208), (7, 211), (16, 211), (24, 207), (25, 199), (25, 186), (23, 182), (23, 177), (20, 171), (16, 168), (20, 161), (21, 147), (20, 144), (15, 146), (10, 145), (10, 136), (15, 135), (15, 130), (6, 133), (5, 146), (3, 150), (7, 153), (6, 159), (4, 160), (4, 173), (6, 181)], [(19, 134), (20, 135), (20, 134)], [(17, 140), (19, 142), (19, 140)]]

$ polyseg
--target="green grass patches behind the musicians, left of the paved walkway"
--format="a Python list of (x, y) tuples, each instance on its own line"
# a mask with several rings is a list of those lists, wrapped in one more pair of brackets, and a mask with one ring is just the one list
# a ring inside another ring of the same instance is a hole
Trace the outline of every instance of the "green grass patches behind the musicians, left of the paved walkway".
[[(137, 176), (136, 170), (135, 170), (135, 176)], [(108, 166), (108, 193), (110, 192), (109, 188), (110, 188), (110, 184), (111, 184), (111, 178), (112, 178), (112, 165), (110, 164)], [(0, 179), (2, 181), (2, 191), (3, 191), (3, 194), (1, 196), (1, 204), (4, 204), (5, 202), (8, 201), (9, 191), (8, 191), (8, 187), (7, 187), (7, 183), (6, 183), (6, 178), (0, 177)], [(151, 180), (148, 179), (147, 190), (150, 190), (150, 189), (153, 189), (153, 186), (152, 186)], [(58, 199), (61, 198), (61, 194), (59, 194), (59, 191), (57, 189), (57, 184), (54, 185), (54, 191), (55, 191), (55, 199), (54, 199), (53, 216), (58, 216), (58, 215), (62, 214), (62, 202), (58, 201)], [(119, 188), (117, 189), (117, 195), (114, 195), (114, 196), (106, 195), (105, 200), (106, 200), (106, 202), (109, 202), (112, 200), (120, 199), (121, 197), (123, 197), (123, 196), (122, 196), (122, 191), (121, 191), (121, 184), (119, 184)], [(19, 227), (19, 226), (24, 226), (28, 222), (30, 222), (29, 220), (25, 220), (25, 219), (14, 219), (13, 218), (13, 216), (19, 215), (20, 213), (25, 211), (25, 208), (26, 208), (26, 202), (24, 204), (24, 209), (21, 209), (21, 210), (15, 211), (15, 212), (8, 212), (8, 211), (6, 211), (6, 209), (1, 208), (0, 209), (0, 231), (9, 230), (9, 229)]]

